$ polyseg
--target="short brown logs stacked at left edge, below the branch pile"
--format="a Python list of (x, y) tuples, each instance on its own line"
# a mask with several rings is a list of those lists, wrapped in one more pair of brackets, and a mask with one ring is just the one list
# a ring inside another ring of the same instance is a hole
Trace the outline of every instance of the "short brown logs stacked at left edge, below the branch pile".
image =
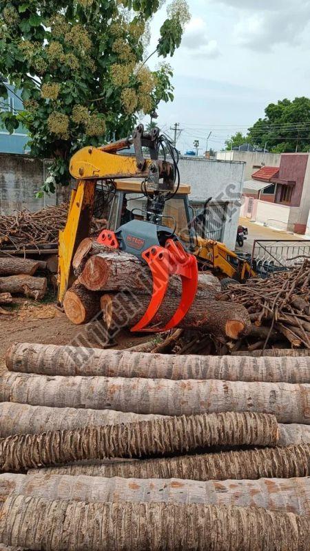
[[(12, 294), (23, 294), (34, 300), (43, 299), (46, 277), (34, 277), (37, 270), (46, 270), (47, 263), (41, 260), (19, 257), (0, 257), (0, 305), (12, 303)], [(0, 307), (0, 314), (10, 314)]]

